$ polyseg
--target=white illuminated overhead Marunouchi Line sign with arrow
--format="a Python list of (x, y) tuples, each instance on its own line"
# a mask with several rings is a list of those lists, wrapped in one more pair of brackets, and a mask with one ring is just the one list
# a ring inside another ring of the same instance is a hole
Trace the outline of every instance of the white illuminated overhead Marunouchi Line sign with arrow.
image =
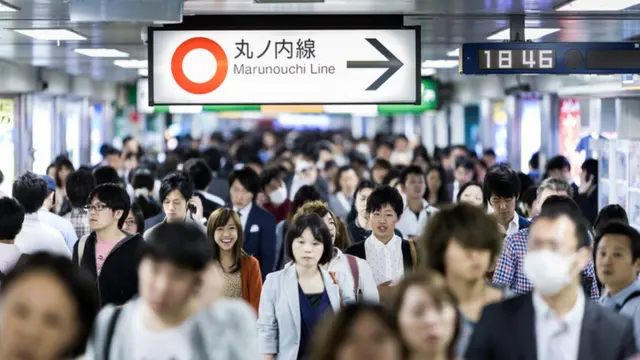
[(150, 105), (420, 104), (419, 28), (149, 31)]

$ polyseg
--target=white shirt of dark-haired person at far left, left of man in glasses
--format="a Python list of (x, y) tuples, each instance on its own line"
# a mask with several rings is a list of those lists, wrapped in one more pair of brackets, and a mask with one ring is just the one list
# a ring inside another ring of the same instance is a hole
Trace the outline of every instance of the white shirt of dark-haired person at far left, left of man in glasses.
[(15, 240), (16, 246), (25, 254), (45, 251), (71, 258), (71, 250), (62, 234), (38, 218), (38, 213), (24, 216), (22, 230)]

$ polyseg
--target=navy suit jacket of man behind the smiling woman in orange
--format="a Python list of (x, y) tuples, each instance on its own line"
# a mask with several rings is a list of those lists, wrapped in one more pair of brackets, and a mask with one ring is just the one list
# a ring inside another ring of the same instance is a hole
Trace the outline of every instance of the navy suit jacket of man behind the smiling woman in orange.
[(276, 218), (256, 204), (244, 228), (243, 248), (260, 262), (262, 280), (276, 270)]

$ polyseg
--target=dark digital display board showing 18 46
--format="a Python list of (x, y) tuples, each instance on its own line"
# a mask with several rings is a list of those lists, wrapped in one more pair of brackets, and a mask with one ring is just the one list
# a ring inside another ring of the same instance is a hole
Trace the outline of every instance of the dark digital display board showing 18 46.
[(460, 52), (464, 74), (638, 74), (640, 43), (472, 43)]

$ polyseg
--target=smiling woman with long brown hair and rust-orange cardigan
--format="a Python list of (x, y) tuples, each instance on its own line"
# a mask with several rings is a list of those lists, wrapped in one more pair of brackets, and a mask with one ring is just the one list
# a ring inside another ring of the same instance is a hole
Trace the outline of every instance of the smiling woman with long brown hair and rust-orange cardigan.
[(238, 214), (229, 208), (211, 213), (207, 236), (213, 242), (215, 260), (224, 270), (224, 296), (241, 297), (258, 311), (262, 293), (260, 264), (242, 249), (244, 234)]

